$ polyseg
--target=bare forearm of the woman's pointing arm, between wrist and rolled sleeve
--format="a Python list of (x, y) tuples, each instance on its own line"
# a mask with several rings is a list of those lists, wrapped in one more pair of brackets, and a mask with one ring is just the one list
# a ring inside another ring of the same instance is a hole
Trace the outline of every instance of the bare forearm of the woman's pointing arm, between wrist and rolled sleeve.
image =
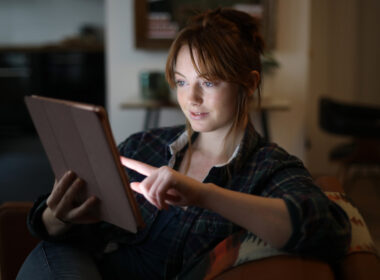
[(201, 207), (210, 209), (251, 231), (273, 247), (281, 248), (292, 234), (285, 201), (240, 193), (208, 184)]

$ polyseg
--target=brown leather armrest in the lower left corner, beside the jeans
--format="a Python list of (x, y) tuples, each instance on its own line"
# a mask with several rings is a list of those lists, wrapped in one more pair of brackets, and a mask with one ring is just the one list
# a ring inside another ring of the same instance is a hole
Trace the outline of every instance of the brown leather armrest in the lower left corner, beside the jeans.
[(15, 279), (26, 256), (37, 244), (27, 229), (26, 217), (32, 202), (6, 202), (0, 205), (1, 280)]

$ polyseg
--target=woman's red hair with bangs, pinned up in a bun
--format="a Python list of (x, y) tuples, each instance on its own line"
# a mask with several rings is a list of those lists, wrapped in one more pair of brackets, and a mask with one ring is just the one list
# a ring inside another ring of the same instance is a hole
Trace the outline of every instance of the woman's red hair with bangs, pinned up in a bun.
[[(179, 51), (187, 46), (198, 74), (210, 81), (222, 80), (239, 85), (237, 114), (228, 135), (234, 133), (249, 114), (252, 91), (260, 88), (252, 71), (261, 75), (264, 42), (257, 20), (247, 13), (219, 8), (195, 16), (172, 43), (166, 62), (166, 79), (174, 88)], [(195, 54), (197, 61), (195, 61)], [(189, 137), (192, 130), (188, 125)]]

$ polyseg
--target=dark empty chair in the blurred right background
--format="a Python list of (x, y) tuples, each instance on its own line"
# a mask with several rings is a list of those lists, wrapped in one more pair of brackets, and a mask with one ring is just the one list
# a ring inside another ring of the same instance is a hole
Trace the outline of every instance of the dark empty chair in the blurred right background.
[(331, 161), (341, 166), (345, 185), (350, 171), (380, 168), (380, 107), (364, 106), (321, 98), (319, 124), (328, 133), (349, 136), (352, 140), (334, 147)]

